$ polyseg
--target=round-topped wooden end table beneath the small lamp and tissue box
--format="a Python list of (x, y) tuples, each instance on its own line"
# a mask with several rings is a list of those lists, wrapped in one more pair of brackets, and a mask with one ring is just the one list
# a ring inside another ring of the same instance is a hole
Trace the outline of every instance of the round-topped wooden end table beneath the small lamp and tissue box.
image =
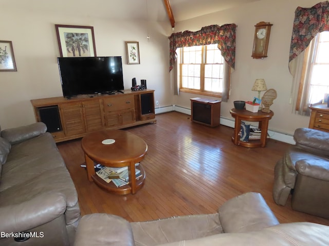
[[(231, 109), (230, 114), (235, 118), (234, 135), (232, 136), (234, 145), (240, 145), (248, 148), (266, 146), (268, 121), (274, 115), (272, 111), (265, 113), (259, 110), (258, 112), (253, 113), (245, 109)], [(257, 140), (249, 140), (248, 142), (240, 141), (239, 132), (241, 129), (241, 120), (258, 121), (258, 128), (261, 129), (261, 138)]]

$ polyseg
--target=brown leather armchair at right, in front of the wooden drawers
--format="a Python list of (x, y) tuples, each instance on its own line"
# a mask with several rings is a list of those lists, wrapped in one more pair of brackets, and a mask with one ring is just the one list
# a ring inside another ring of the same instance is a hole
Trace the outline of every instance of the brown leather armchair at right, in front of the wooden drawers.
[(285, 206), (329, 218), (329, 133), (299, 128), (296, 146), (286, 151), (275, 167), (273, 199)]

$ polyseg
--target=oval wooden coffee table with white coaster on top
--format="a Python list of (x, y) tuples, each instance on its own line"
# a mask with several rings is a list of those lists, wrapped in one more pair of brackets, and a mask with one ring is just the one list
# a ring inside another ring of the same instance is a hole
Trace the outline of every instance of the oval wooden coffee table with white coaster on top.
[[(143, 186), (144, 169), (139, 164), (142, 176), (136, 180), (135, 163), (144, 158), (148, 152), (148, 145), (140, 137), (124, 130), (97, 131), (85, 135), (81, 147), (85, 154), (89, 181), (94, 181), (99, 187), (120, 195), (135, 194)], [(113, 182), (106, 183), (95, 173), (94, 162), (106, 167), (128, 167), (129, 184), (116, 187)]]

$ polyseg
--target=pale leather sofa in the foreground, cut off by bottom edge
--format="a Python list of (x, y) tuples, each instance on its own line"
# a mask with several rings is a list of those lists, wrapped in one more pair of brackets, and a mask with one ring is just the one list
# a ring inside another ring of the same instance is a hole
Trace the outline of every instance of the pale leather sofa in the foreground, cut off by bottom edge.
[(225, 202), (217, 213), (128, 222), (109, 214), (80, 220), (75, 246), (329, 245), (329, 227), (279, 221), (259, 193)]

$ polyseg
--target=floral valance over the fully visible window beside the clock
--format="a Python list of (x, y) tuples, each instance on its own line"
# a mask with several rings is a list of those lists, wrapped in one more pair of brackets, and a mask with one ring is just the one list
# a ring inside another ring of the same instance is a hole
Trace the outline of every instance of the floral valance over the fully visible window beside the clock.
[(230, 67), (235, 66), (235, 24), (223, 26), (211, 25), (201, 28), (196, 32), (184, 31), (171, 34), (169, 71), (174, 67), (176, 60), (176, 49), (198, 45), (218, 44), (218, 49)]

